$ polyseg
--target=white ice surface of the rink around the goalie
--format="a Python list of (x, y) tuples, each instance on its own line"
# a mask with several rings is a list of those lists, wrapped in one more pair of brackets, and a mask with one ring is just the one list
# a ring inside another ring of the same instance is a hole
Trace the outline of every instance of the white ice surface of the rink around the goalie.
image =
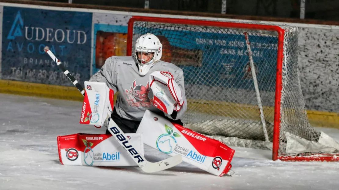
[[(67, 166), (59, 162), (57, 136), (104, 133), (79, 124), (82, 102), (0, 94), (0, 190), (338, 190), (337, 162), (281, 162), (271, 151), (235, 148), (232, 177), (218, 177), (182, 163), (143, 173), (138, 167)], [(321, 128), (339, 141), (338, 129)], [(167, 155), (145, 145), (145, 157)]]

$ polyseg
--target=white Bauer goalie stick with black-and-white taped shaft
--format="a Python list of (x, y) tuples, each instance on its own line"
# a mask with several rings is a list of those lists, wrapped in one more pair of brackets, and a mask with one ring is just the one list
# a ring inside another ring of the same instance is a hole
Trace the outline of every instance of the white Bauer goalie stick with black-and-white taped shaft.
[[(56, 58), (52, 51), (49, 50), (48, 46), (44, 48), (44, 51), (52, 58), (52, 60), (57, 64), (57, 66), (62, 70), (62, 72), (68, 77), (68, 79), (72, 81), (73, 85), (77, 87), (79, 92), (82, 95), (85, 95), (85, 91), (81, 87), (79, 82)], [(151, 173), (165, 170), (173, 166), (176, 166), (182, 162), (181, 155), (169, 157), (159, 162), (149, 162), (143, 156), (141, 156), (136, 149), (133, 148), (133, 145), (128, 141), (128, 138), (125, 138), (126, 135), (122, 132), (119, 126), (110, 117), (107, 120), (107, 126), (108, 131), (115, 137), (115, 139), (120, 143), (120, 145), (128, 152), (128, 155), (137, 163), (137, 165), (144, 172)]]

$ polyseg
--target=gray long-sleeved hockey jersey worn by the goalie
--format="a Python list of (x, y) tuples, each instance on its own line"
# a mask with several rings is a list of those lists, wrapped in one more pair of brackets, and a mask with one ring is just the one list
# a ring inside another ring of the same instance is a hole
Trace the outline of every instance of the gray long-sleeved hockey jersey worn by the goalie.
[(181, 119), (187, 109), (184, 76), (182, 69), (172, 63), (159, 61), (149, 69), (145, 76), (140, 76), (132, 56), (112, 56), (105, 61), (102, 68), (89, 81), (106, 82), (107, 86), (114, 90), (114, 93), (119, 91), (115, 104), (119, 116), (129, 120), (141, 121), (146, 110), (154, 113), (162, 112), (153, 106), (147, 96), (151, 90), (151, 81), (148, 81), (149, 75), (154, 71), (170, 72), (178, 83), (184, 104), (176, 118), (172, 118), (171, 115), (166, 113), (165, 116), (175, 120)]

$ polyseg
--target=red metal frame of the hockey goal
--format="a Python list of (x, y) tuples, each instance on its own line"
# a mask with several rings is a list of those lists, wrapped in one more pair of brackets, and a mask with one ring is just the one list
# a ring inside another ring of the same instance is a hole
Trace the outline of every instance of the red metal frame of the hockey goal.
[[(278, 49), (277, 49), (277, 68), (276, 68), (276, 85), (275, 85), (275, 103), (274, 103), (274, 127), (273, 127), (273, 148), (272, 160), (281, 161), (339, 161), (339, 157), (328, 154), (317, 154), (321, 156), (279, 156), (279, 134), (280, 134), (280, 118), (281, 118), (281, 95), (282, 95), (282, 65), (283, 65), (283, 45), (285, 30), (277, 25), (262, 25), (250, 23), (234, 23), (221, 21), (207, 21), (207, 20), (191, 20), (191, 19), (177, 19), (177, 18), (161, 18), (161, 17), (142, 17), (133, 16), (128, 21), (127, 28), (127, 47), (126, 56), (132, 56), (133, 45), (133, 25), (136, 21), (142, 22), (159, 22), (167, 24), (186, 24), (197, 26), (214, 26), (237, 29), (254, 29), (276, 31), (278, 33)], [(311, 154), (315, 155), (315, 154)], [(338, 155), (337, 155), (338, 156)]]

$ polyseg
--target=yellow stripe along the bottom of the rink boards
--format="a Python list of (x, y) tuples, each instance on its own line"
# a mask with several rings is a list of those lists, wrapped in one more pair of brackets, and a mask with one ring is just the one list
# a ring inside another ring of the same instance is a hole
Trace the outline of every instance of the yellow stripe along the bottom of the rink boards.
[[(13, 80), (0, 80), (0, 93), (83, 101), (82, 94), (75, 87), (45, 85)], [(116, 96), (117, 93), (114, 95), (114, 100), (117, 99)], [(188, 99), (187, 102), (189, 102), (187, 105), (188, 109), (199, 110), (200, 113), (242, 118), (242, 116), (244, 116), (243, 112), (245, 111), (247, 119), (260, 121), (259, 109), (257, 106), (194, 99)], [(264, 106), (263, 111), (266, 119), (272, 122), (274, 108)], [(339, 128), (339, 113), (314, 110), (306, 110), (306, 112), (308, 120), (313, 126)]]

